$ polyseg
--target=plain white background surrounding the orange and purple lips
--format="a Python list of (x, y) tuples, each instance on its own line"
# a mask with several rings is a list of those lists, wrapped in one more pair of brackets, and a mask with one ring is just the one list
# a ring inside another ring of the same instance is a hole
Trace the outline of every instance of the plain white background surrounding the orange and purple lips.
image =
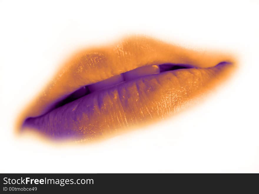
[[(0, 172), (259, 173), (258, 1), (0, 1)], [(201, 105), (92, 145), (15, 137), (17, 114), (79, 47), (127, 34), (227, 49), (240, 68)]]

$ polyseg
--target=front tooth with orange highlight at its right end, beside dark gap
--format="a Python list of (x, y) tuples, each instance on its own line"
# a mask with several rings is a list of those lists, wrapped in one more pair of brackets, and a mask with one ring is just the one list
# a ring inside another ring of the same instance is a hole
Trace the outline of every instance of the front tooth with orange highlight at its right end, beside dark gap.
[(123, 77), (124, 77), (124, 80), (127, 81), (131, 79), (136, 79), (138, 77), (142, 77), (145, 75), (157, 74), (159, 72), (160, 70), (158, 65), (144, 66), (144, 67), (140, 67), (123, 73)]

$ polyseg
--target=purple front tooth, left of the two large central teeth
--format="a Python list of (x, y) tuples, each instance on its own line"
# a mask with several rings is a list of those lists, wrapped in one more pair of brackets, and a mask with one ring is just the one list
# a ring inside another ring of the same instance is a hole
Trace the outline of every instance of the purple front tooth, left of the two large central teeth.
[(123, 81), (124, 81), (124, 79), (123, 79), (122, 74), (115, 75), (115, 76), (110, 77), (109, 79), (105, 79), (101, 82), (97, 82), (95, 84), (88, 85), (88, 89), (90, 90), (90, 92), (94, 92), (99, 89), (103, 89), (103, 88), (107, 88), (109, 86), (119, 84), (120, 82), (123, 82)]

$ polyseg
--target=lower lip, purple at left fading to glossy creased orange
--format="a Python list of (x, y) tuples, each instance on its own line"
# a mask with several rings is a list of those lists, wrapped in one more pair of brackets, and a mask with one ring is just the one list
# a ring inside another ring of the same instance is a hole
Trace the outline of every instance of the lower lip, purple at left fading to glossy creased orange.
[(28, 118), (24, 128), (53, 138), (91, 140), (112, 136), (178, 112), (214, 86), (232, 66), (220, 63), (207, 69), (178, 69), (124, 82)]

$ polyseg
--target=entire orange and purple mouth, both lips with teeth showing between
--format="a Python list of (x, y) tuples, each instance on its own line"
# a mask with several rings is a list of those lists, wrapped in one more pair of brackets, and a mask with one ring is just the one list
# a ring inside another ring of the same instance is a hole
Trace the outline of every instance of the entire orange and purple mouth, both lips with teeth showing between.
[(234, 66), (228, 54), (147, 37), (86, 49), (62, 66), (17, 126), (54, 139), (111, 137), (179, 112)]

